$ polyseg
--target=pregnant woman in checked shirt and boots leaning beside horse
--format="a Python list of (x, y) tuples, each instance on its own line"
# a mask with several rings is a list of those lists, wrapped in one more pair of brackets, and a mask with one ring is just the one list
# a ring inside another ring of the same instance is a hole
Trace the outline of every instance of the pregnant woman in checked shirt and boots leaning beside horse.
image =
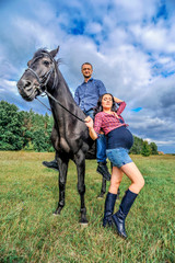
[[(115, 101), (114, 96), (109, 93), (102, 95), (95, 108), (94, 123), (88, 116), (85, 124), (89, 127), (91, 138), (94, 140), (98, 137), (101, 130), (104, 132), (107, 137), (106, 155), (113, 163), (110, 185), (105, 201), (103, 226), (115, 226), (118, 235), (127, 238), (125, 219), (136, 197), (143, 187), (144, 180), (128, 155), (133, 144), (133, 137), (120, 115), (126, 107), (126, 103), (117, 99), (118, 108), (116, 108)], [(122, 197), (118, 211), (113, 215), (117, 191), (124, 173), (130, 179), (131, 184)]]

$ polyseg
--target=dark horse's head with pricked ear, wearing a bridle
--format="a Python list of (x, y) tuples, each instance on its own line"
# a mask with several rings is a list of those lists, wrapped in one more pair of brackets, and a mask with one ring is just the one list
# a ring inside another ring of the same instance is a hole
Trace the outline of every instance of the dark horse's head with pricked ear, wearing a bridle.
[(46, 90), (47, 84), (54, 83), (56, 70), (54, 58), (58, 50), (59, 47), (51, 52), (38, 49), (27, 62), (28, 68), (18, 82), (19, 92), (25, 101), (33, 101)]

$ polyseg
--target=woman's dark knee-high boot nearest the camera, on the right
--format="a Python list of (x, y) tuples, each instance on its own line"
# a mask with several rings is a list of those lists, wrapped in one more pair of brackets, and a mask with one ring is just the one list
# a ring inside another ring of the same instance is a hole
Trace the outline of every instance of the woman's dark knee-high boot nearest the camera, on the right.
[(127, 233), (125, 230), (125, 219), (137, 196), (138, 194), (135, 194), (130, 190), (127, 190), (120, 203), (119, 210), (112, 216), (112, 220), (117, 228), (118, 235), (125, 239), (127, 238)]

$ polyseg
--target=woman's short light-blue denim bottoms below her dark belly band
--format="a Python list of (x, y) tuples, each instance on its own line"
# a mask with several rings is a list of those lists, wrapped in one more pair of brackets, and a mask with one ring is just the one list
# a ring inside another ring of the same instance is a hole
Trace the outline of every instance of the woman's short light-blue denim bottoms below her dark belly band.
[(121, 168), (122, 165), (132, 162), (128, 155), (129, 150), (125, 148), (107, 149), (106, 156), (114, 167)]

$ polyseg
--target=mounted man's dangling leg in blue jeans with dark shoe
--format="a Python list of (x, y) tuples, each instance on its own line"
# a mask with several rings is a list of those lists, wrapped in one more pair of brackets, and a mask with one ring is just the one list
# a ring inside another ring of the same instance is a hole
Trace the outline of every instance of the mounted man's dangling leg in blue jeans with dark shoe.
[(97, 159), (97, 169), (96, 171), (101, 173), (107, 181), (110, 181), (110, 174), (106, 165), (106, 137), (104, 134), (101, 134), (96, 140), (96, 159)]

